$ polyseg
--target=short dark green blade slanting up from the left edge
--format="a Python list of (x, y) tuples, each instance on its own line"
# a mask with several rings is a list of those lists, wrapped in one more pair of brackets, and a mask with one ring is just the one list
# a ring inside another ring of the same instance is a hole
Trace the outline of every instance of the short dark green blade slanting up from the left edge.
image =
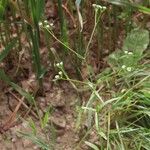
[(5, 49), (0, 53), (0, 62), (8, 55), (10, 50), (15, 46), (17, 39), (13, 39), (8, 45), (5, 47)]

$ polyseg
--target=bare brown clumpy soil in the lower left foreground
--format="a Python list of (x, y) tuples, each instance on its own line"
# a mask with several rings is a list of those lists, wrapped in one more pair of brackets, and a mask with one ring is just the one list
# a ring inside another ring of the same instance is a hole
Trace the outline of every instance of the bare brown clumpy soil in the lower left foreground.
[[(9, 98), (8, 98), (9, 97)], [(9, 103), (8, 103), (8, 99)], [(78, 97), (74, 91), (69, 88), (68, 84), (63, 83), (63, 87), (54, 86), (51, 90), (48, 90), (45, 96), (37, 98), (38, 103), (42, 111), (41, 115), (48, 108), (53, 106), (52, 115), (49, 118), (49, 124), (53, 124), (55, 128), (56, 139), (54, 139), (55, 150), (73, 150), (75, 145), (79, 141), (79, 137), (75, 131), (75, 104), (78, 102)], [(19, 108), (19, 113), (15, 114), (13, 121), (11, 122), (9, 117), (12, 115), (12, 111), (17, 106), (18, 102), (11, 94), (1, 93), (0, 99), (0, 120), (1, 120), (1, 134), (0, 135), (0, 149), (1, 150), (33, 150), (39, 149), (38, 145), (32, 143), (31, 140), (22, 137), (19, 132), (31, 133), (31, 127), (29, 127), (29, 118), (33, 118), (38, 130), (37, 136), (45, 139), (43, 131), (41, 131), (39, 120), (35, 119), (33, 114), (29, 114), (24, 117), (19, 117), (23, 112), (28, 111), (23, 108), (23, 105)], [(11, 107), (11, 110), (10, 110)], [(21, 110), (22, 109), (22, 110)], [(21, 118), (21, 121), (20, 121)], [(9, 121), (8, 121), (9, 120)], [(9, 122), (9, 125), (7, 124)], [(48, 133), (51, 136), (51, 133)], [(51, 142), (51, 141), (50, 141)]]

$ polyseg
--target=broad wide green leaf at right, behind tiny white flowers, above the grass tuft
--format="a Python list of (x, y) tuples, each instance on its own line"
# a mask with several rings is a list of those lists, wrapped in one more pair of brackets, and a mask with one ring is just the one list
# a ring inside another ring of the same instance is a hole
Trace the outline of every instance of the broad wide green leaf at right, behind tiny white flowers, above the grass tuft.
[[(109, 64), (119, 68), (126, 66), (126, 68), (132, 67), (132, 69), (134, 69), (148, 45), (149, 32), (145, 29), (134, 29), (124, 40), (122, 50), (115, 51), (109, 56)], [(124, 69), (124, 71), (125, 70), (126, 69)]]

